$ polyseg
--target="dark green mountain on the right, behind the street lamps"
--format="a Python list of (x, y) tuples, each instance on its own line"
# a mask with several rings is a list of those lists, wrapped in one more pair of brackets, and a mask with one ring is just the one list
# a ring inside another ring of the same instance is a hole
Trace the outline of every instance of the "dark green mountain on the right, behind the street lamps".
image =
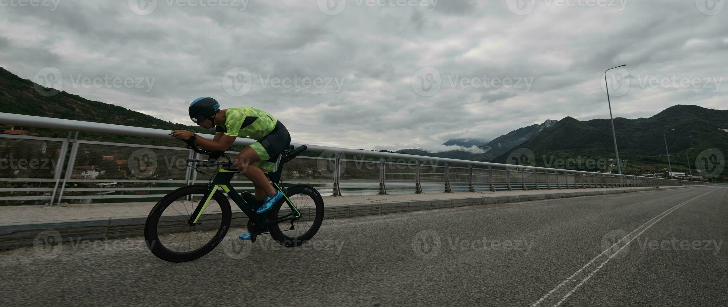
[[(673, 130), (665, 132), (668, 129)], [(728, 110), (714, 110), (697, 105), (674, 105), (649, 119), (614, 119), (620, 159), (622, 164), (626, 162), (623, 172), (632, 174), (649, 172), (649, 169), (630, 166), (630, 162), (659, 166), (658, 169), (668, 167), (665, 139), (673, 171), (689, 172), (686, 151), (691, 156), (690, 166), (693, 169), (697, 154), (707, 148), (717, 148), (728, 153), (726, 129)], [(614, 159), (612, 126), (608, 119), (578, 121), (566, 117), (493, 161), (505, 163), (520, 148), (528, 148), (534, 152), (534, 164), (537, 166), (563, 167), (553, 165), (553, 161), (579, 157), (582, 160)]]

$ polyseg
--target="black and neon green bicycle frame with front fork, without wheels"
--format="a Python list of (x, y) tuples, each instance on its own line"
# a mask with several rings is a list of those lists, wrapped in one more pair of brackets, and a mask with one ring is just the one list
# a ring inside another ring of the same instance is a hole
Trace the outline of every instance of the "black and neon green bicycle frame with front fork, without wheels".
[[(207, 183), (207, 192), (205, 193), (205, 196), (202, 196), (202, 199), (200, 199), (199, 204), (197, 204), (197, 207), (192, 212), (192, 215), (190, 215), (190, 219), (188, 223), (192, 226), (195, 223), (197, 223), (197, 220), (199, 219), (200, 215), (202, 215), (202, 212), (207, 207), (207, 204), (210, 204), (210, 200), (213, 199), (213, 195), (218, 191), (218, 188), (222, 188), (223, 192), (230, 196), (230, 199), (237, 204), (237, 207), (240, 207), (240, 210), (242, 210), (243, 213), (245, 213), (246, 216), (250, 220), (253, 220), (256, 225), (260, 226), (261, 228), (264, 228), (266, 226), (269, 226), (274, 223), (281, 223), (285, 222), (287, 220), (294, 220), (297, 218), (301, 218), (301, 212), (298, 212), (298, 209), (295, 205), (293, 205), (293, 202), (290, 202), (290, 199), (288, 199), (288, 196), (285, 195), (285, 192), (278, 186), (278, 178), (280, 178), (280, 172), (264, 172), (266, 175), (277, 175), (275, 178), (272, 178), (273, 186), (277, 189), (277, 191), (280, 191), (283, 194), (283, 200), (288, 203), (288, 206), (291, 209), (291, 212), (289, 215), (285, 215), (283, 218), (277, 219), (277, 220), (268, 220), (268, 212), (265, 212), (264, 214), (258, 215), (256, 213), (256, 207), (253, 206), (253, 204), (250, 204), (243, 196), (237, 193), (235, 191), (235, 188), (232, 187), (230, 184), (230, 180), (232, 180), (233, 176), (237, 173), (237, 170), (225, 170), (221, 168), (218, 170), (218, 174), (215, 175), (215, 179), (212, 180), (212, 182)], [(250, 194), (248, 192), (244, 192)], [(250, 195), (252, 196), (252, 194)], [(256, 201), (258, 201), (256, 199)], [(295, 216), (294, 215), (295, 212)], [(290, 216), (290, 218), (289, 218)]]

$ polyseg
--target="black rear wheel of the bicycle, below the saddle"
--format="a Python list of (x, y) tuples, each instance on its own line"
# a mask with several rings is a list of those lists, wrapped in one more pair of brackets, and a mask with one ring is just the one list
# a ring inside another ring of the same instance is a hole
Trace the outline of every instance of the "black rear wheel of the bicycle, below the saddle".
[(323, 222), (323, 199), (316, 189), (310, 186), (291, 186), (285, 191), (293, 207), (285, 202), (278, 202), (270, 212), (269, 220), (280, 220), (295, 217), (281, 223), (271, 224), (269, 231), (276, 242), (285, 247), (296, 247), (308, 242), (321, 227)]

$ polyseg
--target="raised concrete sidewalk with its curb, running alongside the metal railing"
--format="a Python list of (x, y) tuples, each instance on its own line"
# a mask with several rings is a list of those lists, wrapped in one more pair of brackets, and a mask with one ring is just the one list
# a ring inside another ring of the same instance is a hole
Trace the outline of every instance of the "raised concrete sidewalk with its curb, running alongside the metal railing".
[[(325, 218), (349, 218), (394, 212), (503, 204), (540, 199), (656, 191), (676, 187), (572, 188), (561, 190), (392, 194), (324, 197)], [(66, 206), (0, 207), (0, 250), (33, 244), (41, 231), (58, 231), (70, 239), (112, 239), (143, 236), (144, 223), (154, 202), (71, 204)], [(244, 227), (248, 218), (234, 204), (231, 227)]]

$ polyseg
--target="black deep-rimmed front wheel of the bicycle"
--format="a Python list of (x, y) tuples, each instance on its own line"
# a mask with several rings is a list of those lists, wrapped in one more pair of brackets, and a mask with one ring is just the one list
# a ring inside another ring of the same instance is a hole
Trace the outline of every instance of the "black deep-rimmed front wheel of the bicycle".
[(205, 193), (206, 186), (179, 188), (154, 205), (144, 226), (144, 239), (152, 254), (170, 262), (190, 261), (222, 241), (232, 213), (221, 192), (215, 191), (197, 223), (188, 222)]

